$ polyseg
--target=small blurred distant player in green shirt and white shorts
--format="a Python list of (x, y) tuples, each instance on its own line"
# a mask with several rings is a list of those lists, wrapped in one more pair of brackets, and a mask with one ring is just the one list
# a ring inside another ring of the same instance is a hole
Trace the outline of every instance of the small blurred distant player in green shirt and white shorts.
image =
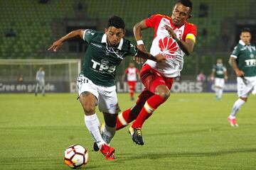
[(222, 59), (217, 60), (217, 64), (215, 64), (215, 66), (212, 69), (210, 79), (211, 81), (214, 80), (215, 96), (217, 100), (220, 100), (223, 95), (225, 81), (228, 80), (228, 72), (225, 66), (223, 65)]

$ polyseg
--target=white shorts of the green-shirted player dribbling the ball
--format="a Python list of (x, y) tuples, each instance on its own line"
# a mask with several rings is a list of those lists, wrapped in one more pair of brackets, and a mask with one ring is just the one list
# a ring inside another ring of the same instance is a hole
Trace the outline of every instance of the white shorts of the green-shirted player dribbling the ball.
[(105, 113), (119, 113), (120, 108), (117, 102), (116, 86), (97, 86), (92, 83), (90, 79), (87, 79), (82, 74), (77, 79), (78, 96), (82, 92), (88, 91), (97, 98), (97, 104), (99, 110)]

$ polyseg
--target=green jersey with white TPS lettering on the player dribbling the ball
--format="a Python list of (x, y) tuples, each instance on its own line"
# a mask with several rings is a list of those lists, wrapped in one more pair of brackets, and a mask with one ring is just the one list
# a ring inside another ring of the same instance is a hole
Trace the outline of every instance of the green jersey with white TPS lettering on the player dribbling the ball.
[(89, 46), (80, 74), (99, 86), (114, 86), (117, 66), (124, 57), (137, 55), (138, 52), (137, 47), (124, 38), (118, 47), (110, 47), (107, 44), (107, 35), (95, 30), (85, 30), (83, 39)]

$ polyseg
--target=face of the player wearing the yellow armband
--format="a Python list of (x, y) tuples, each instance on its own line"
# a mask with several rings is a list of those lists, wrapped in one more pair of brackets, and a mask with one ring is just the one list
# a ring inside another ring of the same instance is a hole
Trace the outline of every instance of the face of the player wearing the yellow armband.
[(174, 26), (182, 26), (190, 17), (189, 7), (183, 6), (181, 3), (174, 6), (174, 11), (171, 15)]

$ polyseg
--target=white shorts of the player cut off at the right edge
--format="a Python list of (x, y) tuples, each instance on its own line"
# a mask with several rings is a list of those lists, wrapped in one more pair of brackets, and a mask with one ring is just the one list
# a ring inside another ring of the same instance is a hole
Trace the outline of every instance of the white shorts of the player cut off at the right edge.
[(238, 81), (238, 97), (247, 98), (252, 92), (256, 92), (256, 77), (245, 77), (247, 84), (244, 83), (241, 77), (237, 77)]

